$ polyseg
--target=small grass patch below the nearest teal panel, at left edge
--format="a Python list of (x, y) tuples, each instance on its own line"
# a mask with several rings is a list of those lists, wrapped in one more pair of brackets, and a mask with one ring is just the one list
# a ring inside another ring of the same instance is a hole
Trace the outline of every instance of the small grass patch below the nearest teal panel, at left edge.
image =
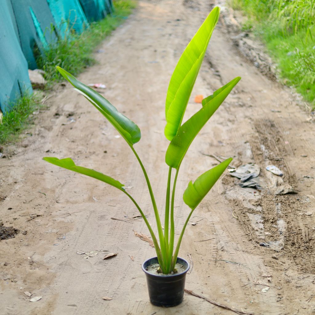
[(11, 111), (3, 116), (2, 124), (0, 124), (0, 144), (16, 141), (20, 133), (34, 121), (32, 113), (41, 106), (39, 95), (25, 94), (18, 98)]

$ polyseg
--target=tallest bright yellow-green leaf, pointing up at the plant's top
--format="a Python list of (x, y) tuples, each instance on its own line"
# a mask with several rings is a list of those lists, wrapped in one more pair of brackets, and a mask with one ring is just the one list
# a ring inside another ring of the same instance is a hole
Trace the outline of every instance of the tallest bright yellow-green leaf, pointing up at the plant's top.
[(173, 139), (183, 120), (212, 31), (219, 19), (219, 13), (218, 7), (210, 12), (175, 67), (169, 82), (165, 103), (166, 126), (164, 134), (168, 140)]

